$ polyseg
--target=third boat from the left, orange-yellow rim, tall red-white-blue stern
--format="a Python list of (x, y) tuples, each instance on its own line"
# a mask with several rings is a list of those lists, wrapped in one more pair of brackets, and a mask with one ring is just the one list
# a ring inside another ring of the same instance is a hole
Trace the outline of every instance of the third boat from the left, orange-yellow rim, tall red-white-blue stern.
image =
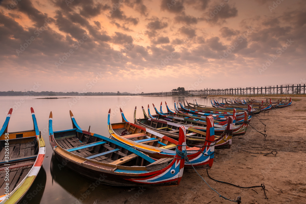
[[(140, 125), (130, 123), (126, 120), (121, 109), (120, 112), (122, 122), (114, 124), (110, 123), (110, 110), (108, 112), (108, 131), (112, 139), (140, 150), (156, 159), (173, 158), (175, 156), (175, 148), (179, 145), (177, 140)], [(195, 168), (209, 169), (214, 159), (215, 135), (213, 118), (208, 116), (206, 119), (207, 132), (204, 145), (201, 148), (186, 146), (187, 157)], [(185, 162), (185, 167), (191, 168), (190, 163)]]

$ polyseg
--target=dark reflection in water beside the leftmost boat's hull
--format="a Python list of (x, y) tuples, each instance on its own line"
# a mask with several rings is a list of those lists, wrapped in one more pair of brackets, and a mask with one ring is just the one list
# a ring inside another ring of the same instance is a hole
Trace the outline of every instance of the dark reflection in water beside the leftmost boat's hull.
[(43, 191), (45, 190), (47, 181), (47, 174), (45, 169), (42, 167), (39, 170), (39, 173), (34, 180), (32, 186), (29, 188), (28, 192), (24, 195), (24, 198), (20, 203), (22, 204), (34, 204), (40, 203), (41, 198), (43, 197)]

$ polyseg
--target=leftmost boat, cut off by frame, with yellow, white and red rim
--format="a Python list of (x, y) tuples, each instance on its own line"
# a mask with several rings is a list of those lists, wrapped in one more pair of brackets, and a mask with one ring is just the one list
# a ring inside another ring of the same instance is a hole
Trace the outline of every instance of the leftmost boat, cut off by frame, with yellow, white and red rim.
[(0, 130), (0, 203), (18, 203), (33, 184), (45, 157), (45, 142), (31, 108), (33, 130), (7, 132), (13, 109)]

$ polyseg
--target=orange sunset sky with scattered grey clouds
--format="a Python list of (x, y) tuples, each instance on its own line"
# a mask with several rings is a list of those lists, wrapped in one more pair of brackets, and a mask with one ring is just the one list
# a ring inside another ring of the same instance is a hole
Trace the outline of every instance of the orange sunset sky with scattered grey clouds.
[(304, 84), (303, 0), (0, 0), (0, 91)]

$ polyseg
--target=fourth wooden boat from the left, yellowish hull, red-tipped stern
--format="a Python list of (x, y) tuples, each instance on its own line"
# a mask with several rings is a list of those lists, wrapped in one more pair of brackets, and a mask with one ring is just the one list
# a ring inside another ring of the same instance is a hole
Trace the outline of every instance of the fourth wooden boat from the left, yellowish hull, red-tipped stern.
[[(186, 142), (188, 146), (195, 146), (195, 147), (202, 147), (205, 144), (205, 138), (206, 138), (206, 122), (205, 127), (193, 125), (193, 124), (187, 124), (184, 123), (185, 121), (176, 122), (174, 120), (165, 120), (165, 119), (155, 119), (155, 118), (149, 118), (144, 111), (144, 107), (142, 107), (145, 118), (143, 119), (136, 119), (136, 107), (134, 111), (134, 124), (143, 126), (145, 128), (151, 129), (155, 132), (158, 132), (162, 135), (166, 135), (168, 137), (178, 139), (179, 134), (178, 128), (180, 126), (184, 126), (186, 128)], [(163, 116), (161, 116), (163, 117)], [(167, 117), (167, 116), (165, 116)], [(195, 121), (196, 122), (196, 121)], [(203, 124), (200, 124), (203, 125)], [(232, 135), (233, 135), (233, 117), (228, 118), (228, 124), (225, 128), (215, 128), (218, 130), (222, 130), (222, 133), (220, 133), (220, 136), (215, 135), (215, 149), (224, 149), (224, 148), (230, 148), (230, 145), (232, 143)], [(225, 143), (224, 141), (227, 141)]]

